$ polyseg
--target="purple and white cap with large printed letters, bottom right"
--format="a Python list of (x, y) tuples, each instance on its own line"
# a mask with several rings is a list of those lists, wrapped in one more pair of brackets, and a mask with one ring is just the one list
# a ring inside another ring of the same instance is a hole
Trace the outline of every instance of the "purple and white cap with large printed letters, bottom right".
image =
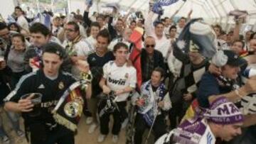
[(242, 113), (233, 102), (228, 101), (224, 96), (215, 99), (210, 104), (210, 109), (203, 114), (208, 121), (217, 124), (241, 123), (244, 120)]

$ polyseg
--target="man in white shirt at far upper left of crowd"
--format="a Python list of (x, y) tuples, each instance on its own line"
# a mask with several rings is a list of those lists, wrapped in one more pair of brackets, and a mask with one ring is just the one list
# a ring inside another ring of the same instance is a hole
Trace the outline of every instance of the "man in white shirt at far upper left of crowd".
[(23, 11), (22, 11), (21, 7), (19, 7), (19, 6), (15, 7), (15, 14), (17, 16), (16, 23), (18, 23), (18, 26), (21, 26), (21, 28), (23, 28), (26, 31), (28, 31), (28, 21), (23, 16)]

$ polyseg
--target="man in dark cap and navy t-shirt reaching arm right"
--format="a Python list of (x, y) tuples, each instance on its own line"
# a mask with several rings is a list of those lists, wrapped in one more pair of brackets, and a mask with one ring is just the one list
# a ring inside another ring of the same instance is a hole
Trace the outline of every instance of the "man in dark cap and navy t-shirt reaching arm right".
[(201, 107), (208, 108), (210, 101), (218, 95), (226, 96), (227, 99), (235, 102), (242, 96), (256, 91), (256, 85), (251, 83), (255, 81), (253, 79), (248, 80), (244, 86), (239, 86), (237, 79), (240, 69), (244, 70), (247, 62), (232, 50), (218, 51), (213, 56), (212, 63), (219, 67), (221, 72), (220, 74), (210, 72), (203, 74), (196, 94)]

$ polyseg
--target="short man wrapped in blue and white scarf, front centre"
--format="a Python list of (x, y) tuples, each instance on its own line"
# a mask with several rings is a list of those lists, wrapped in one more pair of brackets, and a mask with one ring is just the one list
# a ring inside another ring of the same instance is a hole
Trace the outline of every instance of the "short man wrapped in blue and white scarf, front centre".
[(164, 73), (161, 67), (156, 67), (151, 79), (142, 84), (141, 94), (132, 97), (134, 105), (139, 107), (135, 120), (135, 144), (142, 143), (146, 128), (152, 127), (155, 140), (166, 133), (164, 111), (171, 109), (171, 101), (163, 83)]

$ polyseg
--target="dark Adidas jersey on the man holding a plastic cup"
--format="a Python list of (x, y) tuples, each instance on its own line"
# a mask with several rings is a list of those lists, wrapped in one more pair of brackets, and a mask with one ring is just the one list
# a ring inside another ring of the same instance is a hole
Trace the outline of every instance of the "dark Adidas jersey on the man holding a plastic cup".
[(31, 118), (28, 117), (27, 113), (22, 113), (25, 124), (29, 125), (38, 122), (55, 123), (51, 111), (54, 109), (65, 90), (74, 82), (75, 79), (67, 72), (59, 72), (58, 77), (52, 80), (46, 77), (43, 70), (38, 70), (21, 77), (14, 91), (11, 92), (6, 99), (18, 102), (24, 94), (41, 93), (43, 95), (41, 114)]

